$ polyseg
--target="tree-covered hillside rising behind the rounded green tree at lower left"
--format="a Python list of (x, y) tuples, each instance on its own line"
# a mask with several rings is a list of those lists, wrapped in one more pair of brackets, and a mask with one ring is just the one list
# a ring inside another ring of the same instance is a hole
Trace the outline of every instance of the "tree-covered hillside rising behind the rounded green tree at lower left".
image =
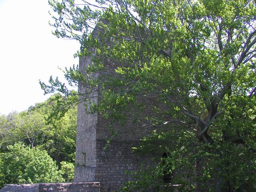
[(5, 152), (8, 145), (23, 142), (31, 148), (45, 149), (58, 165), (61, 161), (74, 162), (77, 109), (69, 109), (61, 118), (50, 117), (56, 107), (53, 100), (57, 98), (62, 96), (55, 94), (26, 111), (0, 116), (1, 151)]

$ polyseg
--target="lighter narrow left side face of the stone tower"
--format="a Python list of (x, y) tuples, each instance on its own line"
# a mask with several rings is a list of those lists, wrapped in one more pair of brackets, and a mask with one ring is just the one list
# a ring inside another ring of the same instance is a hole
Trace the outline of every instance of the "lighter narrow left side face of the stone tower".
[[(81, 58), (79, 70), (84, 72), (87, 65), (91, 64), (88, 57)], [(85, 93), (83, 85), (78, 86), (79, 93)], [(79, 96), (81, 99), (82, 96)], [(92, 101), (97, 103), (97, 97)], [(87, 114), (85, 102), (78, 104), (77, 130), (76, 130), (76, 160), (74, 182), (94, 181), (96, 168), (96, 124), (97, 114)]]

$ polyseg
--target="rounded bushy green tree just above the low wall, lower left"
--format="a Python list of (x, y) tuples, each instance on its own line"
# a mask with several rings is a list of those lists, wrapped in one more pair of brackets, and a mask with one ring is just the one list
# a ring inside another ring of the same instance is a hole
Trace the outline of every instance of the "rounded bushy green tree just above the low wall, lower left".
[(8, 152), (0, 154), (0, 184), (43, 183), (63, 181), (56, 163), (37, 148), (30, 149), (24, 144), (8, 146)]

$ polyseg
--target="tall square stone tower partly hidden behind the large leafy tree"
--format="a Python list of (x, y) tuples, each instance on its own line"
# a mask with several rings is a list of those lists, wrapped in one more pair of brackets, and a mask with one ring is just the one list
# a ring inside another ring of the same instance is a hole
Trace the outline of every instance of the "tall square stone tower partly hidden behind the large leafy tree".
[[(97, 38), (97, 30), (93, 35)], [(90, 57), (81, 58), (79, 70), (84, 73), (91, 64)], [(79, 93), (84, 93), (85, 88), (78, 86)], [(94, 97), (97, 103), (98, 98)], [(151, 102), (148, 102), (150, 105)], [(140, 162), (149, 162), (149, 157), (139, 157), (131, 153), (147, 130), (136, 127), (134, 123), (127, 122), (120, 128), (119, 135), (111, 139), (111, 145), (106, 151), (106, 136), (111, 136), (107, 128), (108, 122), (100, 114), (87, 114), (84, 103), (78, 105), (78, 123), (76, 135), (76, 163), (74, 182), (96, 181), (101, 183), (101, 191), (110, 192), (118, 190), (127, 181), (131, 181), (130, 175), (125, 171), (136, 171)], [(119, 129), (116, 125), (114, 129)]]

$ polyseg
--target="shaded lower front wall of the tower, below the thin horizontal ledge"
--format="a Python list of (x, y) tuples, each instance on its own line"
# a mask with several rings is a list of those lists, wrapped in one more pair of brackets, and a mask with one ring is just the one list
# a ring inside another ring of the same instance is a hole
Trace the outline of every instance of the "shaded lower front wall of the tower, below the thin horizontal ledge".
[(105, 140), (97, 140), (95, 181), (102, 183), (102, 192), (117, 191), (127, 181), (133, 181), (131, 175), (125, 171), (139, 170), (142, 162), (149, 165), (150, 158), (132, 154), (132, 147), (136, 144), (129, 141), (111, 141), (107, 151), (102, 151)]

